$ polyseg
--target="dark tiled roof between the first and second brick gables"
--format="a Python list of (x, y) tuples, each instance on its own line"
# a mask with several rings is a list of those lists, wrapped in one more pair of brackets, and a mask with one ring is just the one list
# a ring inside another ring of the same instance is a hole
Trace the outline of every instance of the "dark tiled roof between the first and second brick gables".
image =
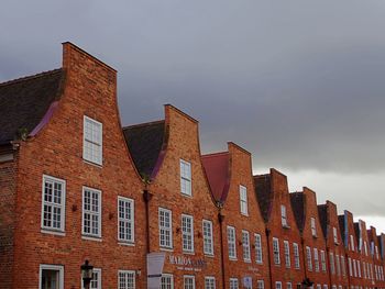
[(142, 177), (152, 178), (165, 143), (165, 121), (123, 127), (130, 154)]

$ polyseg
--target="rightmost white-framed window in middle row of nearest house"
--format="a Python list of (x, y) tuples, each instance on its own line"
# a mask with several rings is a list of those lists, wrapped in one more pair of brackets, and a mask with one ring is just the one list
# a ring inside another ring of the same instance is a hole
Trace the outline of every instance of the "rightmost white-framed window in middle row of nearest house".
[(134, 200), (118, 197), (118, 240), (134, 242)]

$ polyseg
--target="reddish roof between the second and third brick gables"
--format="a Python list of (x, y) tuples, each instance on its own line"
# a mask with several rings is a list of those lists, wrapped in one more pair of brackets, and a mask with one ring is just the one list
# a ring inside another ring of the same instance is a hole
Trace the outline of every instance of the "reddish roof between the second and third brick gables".
[(230, 187), (230, 154), (228, 152), (204, 155), (201, 157), (212, 197), (224, 202)]

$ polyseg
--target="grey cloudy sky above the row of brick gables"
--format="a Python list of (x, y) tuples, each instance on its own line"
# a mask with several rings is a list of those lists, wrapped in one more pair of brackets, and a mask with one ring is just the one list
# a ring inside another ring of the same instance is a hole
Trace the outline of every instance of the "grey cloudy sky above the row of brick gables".
[(14, 1), (0, 81), (61, 66), (70, 41), (119, 71), (123, 124), (172, 103), (202, 152), (233, 141), (385, 232), (385, 1)]

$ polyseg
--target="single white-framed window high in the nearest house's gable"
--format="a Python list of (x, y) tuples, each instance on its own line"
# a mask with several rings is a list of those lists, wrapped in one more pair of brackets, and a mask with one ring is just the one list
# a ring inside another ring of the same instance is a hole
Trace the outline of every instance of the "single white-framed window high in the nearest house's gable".
[(98, 165), (102, 164), (102, 123), (84, 116), (82, 158)]

